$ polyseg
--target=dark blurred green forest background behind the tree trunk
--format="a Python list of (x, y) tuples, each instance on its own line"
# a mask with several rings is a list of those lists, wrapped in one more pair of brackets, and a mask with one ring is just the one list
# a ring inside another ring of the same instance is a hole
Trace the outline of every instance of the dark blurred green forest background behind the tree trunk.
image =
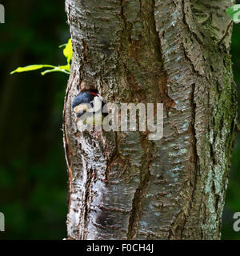
[[(59, 45), (70, 38), (65, 2), (0, 1), (0, 212), (6, 232), (0, 239), (66, 237), (67, 174), (62, 146), (62, 110), (67, 74), (10, 75), (18, 66), (65, 64)], [(240, 3), (240, 1), (238, 1)], [(231, 54), (240, 94), (240, 24), (234, 25)], [(239, 98), (239, 97), (238, 97)], [(240, 239), (233, 230), (240, 212), (238, 134), (223, 214), (222, 239)]]

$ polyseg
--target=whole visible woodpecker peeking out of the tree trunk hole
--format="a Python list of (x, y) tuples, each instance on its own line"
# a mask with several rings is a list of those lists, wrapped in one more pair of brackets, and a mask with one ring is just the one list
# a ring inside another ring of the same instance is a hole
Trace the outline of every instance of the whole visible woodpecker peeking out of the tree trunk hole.
[(98, 90), (81, 91), (72, 102), (72, 109), (76, 115), (75, 122), (79, 120), (83, 124), (102, 124), (102, 118), (107, 115), (102, 109), (106, 105), (105, 100)]

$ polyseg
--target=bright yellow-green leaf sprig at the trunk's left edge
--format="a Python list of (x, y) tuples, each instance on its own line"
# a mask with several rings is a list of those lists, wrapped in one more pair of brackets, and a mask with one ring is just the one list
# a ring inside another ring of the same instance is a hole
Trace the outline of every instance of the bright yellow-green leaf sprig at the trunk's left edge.
[[(47, 74), (50, 72), (63, 72), (66, 74), (70, 74), (70, 62), (73, 58), (73, 46), (72, 46), (72, 40), (71, 38), (68, 40), (68, 42), (62, 46), (65, 46), (63, 49), (63, 54), (66, 57), (66, 65), (63, 66), (53, 66), (53, 65), (30, 65), (30, 66), (24, 66), (24, 67), (18, 67), (16, 70), (12, 71), (10, 74), (14, 73), (21, 73), (21, 72), (26, 72), (26, 71), (32, 71), (32, 70), (40, 70), (45, 67), (50, 67), (50, 70), (45, 70), (41, 74)], [(59, 46), (61, 48), (62, 46)]]

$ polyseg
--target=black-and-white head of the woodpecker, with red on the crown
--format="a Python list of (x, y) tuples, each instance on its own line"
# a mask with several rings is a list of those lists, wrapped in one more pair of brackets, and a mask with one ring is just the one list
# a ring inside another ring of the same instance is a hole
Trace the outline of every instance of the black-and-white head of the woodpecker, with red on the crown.
[[(105, 100), (98, 90), (85, 90), (80, 92), (72, 102), (72, 108), (76, 115), (75, 121), (78, 121), (78, 118), (83, 118), (86, 115), (94, 115), (94, 118), (97, 114), (106, 115), (102, 113), (102, 108), (106, 104)], [(85, 115), (84, 115), (85, 114)]]

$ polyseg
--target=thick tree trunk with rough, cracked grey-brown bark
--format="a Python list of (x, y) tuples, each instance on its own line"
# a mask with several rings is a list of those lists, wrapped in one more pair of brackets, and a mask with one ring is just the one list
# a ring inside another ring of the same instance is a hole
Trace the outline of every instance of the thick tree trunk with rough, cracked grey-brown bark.
[[(68, 238), (220, 238), (237, 115), (231, 4), (66, 0)], [(88, 88), (107, 102), (162, 102), (163, 138), (79, 132), (70, 105)]]

